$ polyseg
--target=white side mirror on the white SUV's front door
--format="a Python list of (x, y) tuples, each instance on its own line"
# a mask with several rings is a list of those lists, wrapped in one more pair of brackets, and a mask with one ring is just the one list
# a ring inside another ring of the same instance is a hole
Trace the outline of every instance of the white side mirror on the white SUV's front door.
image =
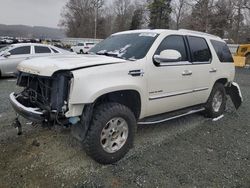
[(181, 54), (177, 50), (163, 50), (160, 55), (154, 55), (157, 63), (172, 63), (181, 61)]

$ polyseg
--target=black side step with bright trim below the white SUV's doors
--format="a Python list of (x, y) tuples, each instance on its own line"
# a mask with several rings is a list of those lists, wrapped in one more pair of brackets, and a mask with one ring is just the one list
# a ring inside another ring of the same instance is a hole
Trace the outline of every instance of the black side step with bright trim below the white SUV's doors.
[(138, 125), (149, 125), (149, 124), (158, 124), (158, 123), (163, 123), (172, 119), (180, 118), (183, 116), (187, 116), (190, 114), (195, 114), (198, 112), (204, 111), (205, 108), (202, 106), (199, 107), (192, 107), (192, 108), (186, 108), (183, 110), (178, 110), (174, 112), (168, 112), (165, 114), (161, 115), (156, 115), (156, 116), (150, 116), (147, 118), (141, 119), (137, 124)]

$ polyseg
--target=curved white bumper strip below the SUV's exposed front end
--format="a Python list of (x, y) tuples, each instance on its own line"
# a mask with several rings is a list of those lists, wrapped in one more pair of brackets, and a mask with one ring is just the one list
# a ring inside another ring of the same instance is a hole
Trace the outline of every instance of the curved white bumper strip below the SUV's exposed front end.
[(10, 94), (10, 103), (17, 114), (32, 122), (43, 122), (45, 120), (44, 113), (38, 108), (30, 108), (21, 104), (18, 100), (18, 95)]

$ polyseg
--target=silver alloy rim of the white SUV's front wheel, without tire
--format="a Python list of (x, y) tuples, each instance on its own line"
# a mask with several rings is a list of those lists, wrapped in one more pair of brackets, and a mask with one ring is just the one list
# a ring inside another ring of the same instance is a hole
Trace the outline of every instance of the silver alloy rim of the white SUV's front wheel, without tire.
[(111, 119), (101, 132), (101, 146), (108, 153), (115, 153), (121, 149), (128, 138), (128, 124), (125, 119), (115, 117)]

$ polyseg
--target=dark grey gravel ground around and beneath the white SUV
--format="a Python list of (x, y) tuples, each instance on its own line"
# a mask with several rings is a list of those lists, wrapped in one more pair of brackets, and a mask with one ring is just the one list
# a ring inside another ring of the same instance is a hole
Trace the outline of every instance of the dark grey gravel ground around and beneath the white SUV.
[[(196, 114), (141, 126), (134, 148), (116, 165), (92, 161), (67, 129), (10, 126), (8, 95), (15, 80), (0, 80), (0, 187), (250, 187), (250, 69), (237, 70), (244, 104), (228, 101), (213, 122)], [(28, 123), (28, 124), (27, 124)]]

